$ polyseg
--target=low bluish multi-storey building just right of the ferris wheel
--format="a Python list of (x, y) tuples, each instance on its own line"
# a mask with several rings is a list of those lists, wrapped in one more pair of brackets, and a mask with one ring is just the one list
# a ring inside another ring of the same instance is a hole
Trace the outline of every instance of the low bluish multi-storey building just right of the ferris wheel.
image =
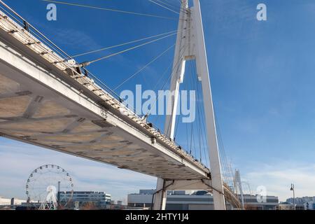
[(60, 199), (69, 202), (69, 209), (108, 209), (111, 195), (96, 191), (61, 192)]

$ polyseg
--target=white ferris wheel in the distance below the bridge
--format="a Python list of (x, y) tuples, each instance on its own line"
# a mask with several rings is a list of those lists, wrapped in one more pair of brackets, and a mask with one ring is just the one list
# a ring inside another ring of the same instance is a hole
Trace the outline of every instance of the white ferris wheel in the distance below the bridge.
[(36, 202), (38, 209), (65, 209), (73, 195), (72, 178), (62, 167), (43, 165), (29, 175), (26, 194), (27, 201)]

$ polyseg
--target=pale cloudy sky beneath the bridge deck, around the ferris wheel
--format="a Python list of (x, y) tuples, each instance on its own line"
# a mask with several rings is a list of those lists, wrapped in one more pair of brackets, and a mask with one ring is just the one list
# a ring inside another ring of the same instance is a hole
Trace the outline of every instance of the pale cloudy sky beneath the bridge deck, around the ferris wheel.
[(128, 193), (141, 188), (155, 188), (152, 176), (15, 141), (0, 142), (0, 195), (5, 197), (25, 198), (29, 174), (45, 164), (66, 169), (73, 177), (74, 190), (105, 191), (114, 200), (125, 200)]

